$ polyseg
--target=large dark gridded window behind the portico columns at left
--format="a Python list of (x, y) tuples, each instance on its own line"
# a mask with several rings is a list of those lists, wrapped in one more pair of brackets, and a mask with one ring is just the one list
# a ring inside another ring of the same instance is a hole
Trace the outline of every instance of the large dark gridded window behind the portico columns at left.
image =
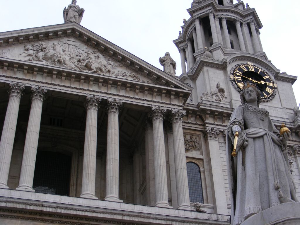
[(38, 151), (33, 189), (40, 193), (69, 195), (71, 157), (58, 152)]

